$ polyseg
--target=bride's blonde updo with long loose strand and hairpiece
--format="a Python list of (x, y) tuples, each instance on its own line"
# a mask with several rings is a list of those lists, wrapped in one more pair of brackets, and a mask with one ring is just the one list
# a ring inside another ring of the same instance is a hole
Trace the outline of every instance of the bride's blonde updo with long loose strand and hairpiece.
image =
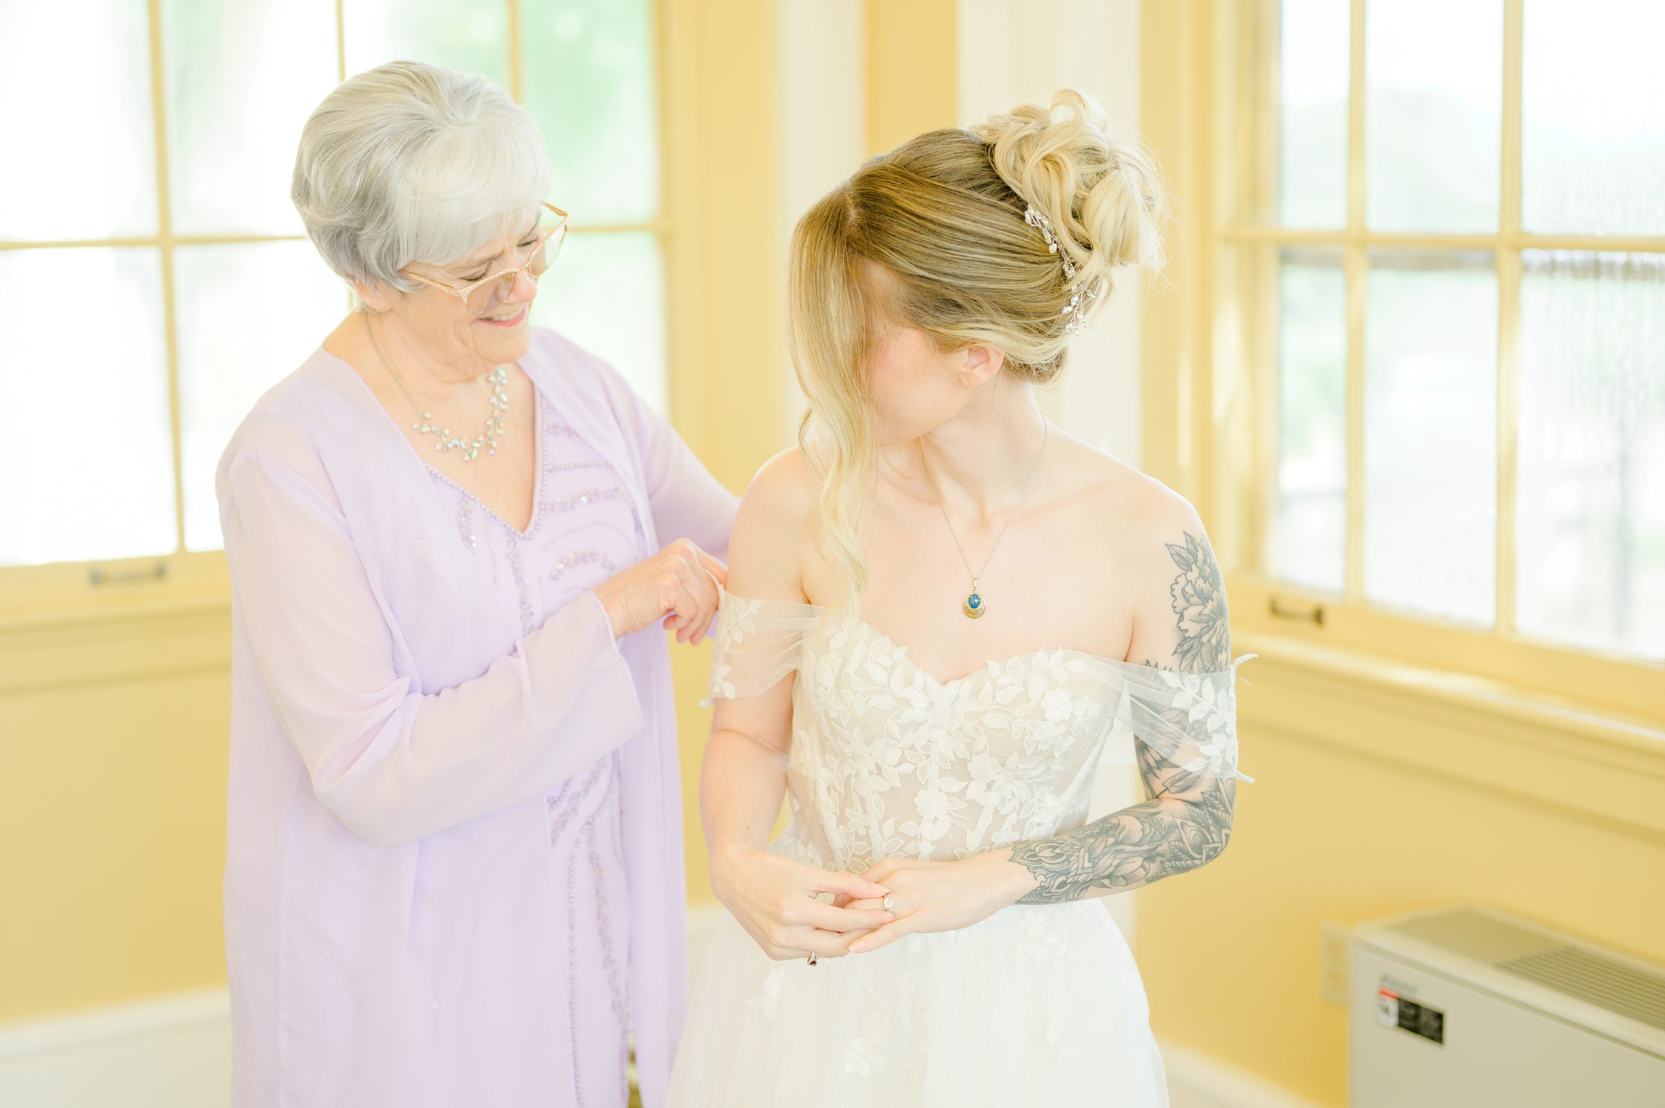
[[(1024, 220), (1051, 220), (1057, 253)], [(971, 128), (927, 132), (823, 197), (793, 232), (788, 338), (809, 402), (798, 440), (821, 478), (821, 538), (859, 598), (857, 545), (876, 443), (869, 357), (882, 318), (946, 352), (987, 345), (1002, 372), (1046, 383), (1069, 352), (1064, 312), (1104, 303), (1119, 267), (1162, 267), (1166, 190), (1141, 147), (1111, 138), (1104, 112), (1071, 88)], [(1064, 273), (1064, 257), (1074, 267)], [(891, 275), (869, 287), (864, 263)], [(1084, 320), (1082, 320), (1084, 322)], [(1077, 323), (1079, 327), (1079, 323)]]

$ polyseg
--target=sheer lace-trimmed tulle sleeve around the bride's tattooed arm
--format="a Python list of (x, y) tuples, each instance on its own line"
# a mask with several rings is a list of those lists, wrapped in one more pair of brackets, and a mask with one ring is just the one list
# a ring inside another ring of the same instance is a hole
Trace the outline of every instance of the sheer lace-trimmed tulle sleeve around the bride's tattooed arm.
[(1107, 761), (1134, 761), (1137, 738), (1180, 775), (1169, 780), (1175, 793), (1207, 778), (1254, 781), (1237, 768), (1237, 666), (1214, 673), (1175, 673), (1156, 666), (1127, 666), (1116, 725), (1106, 745)]

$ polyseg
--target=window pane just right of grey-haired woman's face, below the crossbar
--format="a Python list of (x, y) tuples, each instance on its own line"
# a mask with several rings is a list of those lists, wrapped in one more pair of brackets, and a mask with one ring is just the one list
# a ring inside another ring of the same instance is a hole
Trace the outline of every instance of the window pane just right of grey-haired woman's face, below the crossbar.
[(553, 327), (606, 358), (661, 415), (666, 413), (663, 268), (654, 235), (574, 232), (538, 282), (531, 310), (538, 327)]

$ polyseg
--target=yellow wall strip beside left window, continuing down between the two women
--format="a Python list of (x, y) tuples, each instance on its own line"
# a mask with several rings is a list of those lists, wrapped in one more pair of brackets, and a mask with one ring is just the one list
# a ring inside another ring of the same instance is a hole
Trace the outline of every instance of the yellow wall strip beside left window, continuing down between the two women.
[[(678, 228), (669, 270), (673, 418), (706, 467), (739, 493), (786, 445), (784, 297), (771, 232), (779, 223), (778, 17), (771, 0), (669, 3), (666, 17), (668, 193)], [(698, 785), (711, 711), (699, 701), (711, 645), (689, 650), (673, 640), (671, 658), (688, 898), (703, 901), (711, 900), (711, 878)]]

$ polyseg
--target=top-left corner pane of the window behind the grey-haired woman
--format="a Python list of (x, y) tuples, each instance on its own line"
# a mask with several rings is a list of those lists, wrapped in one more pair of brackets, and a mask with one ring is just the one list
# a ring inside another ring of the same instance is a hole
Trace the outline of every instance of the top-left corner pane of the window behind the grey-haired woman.
[(155, 235), (145, 5), (5, 3), (0, 42), (0, 238)]

